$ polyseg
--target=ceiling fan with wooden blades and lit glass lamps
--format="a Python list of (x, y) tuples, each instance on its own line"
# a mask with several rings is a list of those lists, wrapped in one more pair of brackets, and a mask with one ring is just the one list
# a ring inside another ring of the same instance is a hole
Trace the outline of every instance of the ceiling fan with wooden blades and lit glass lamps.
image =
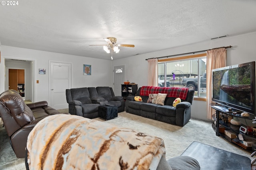
[[(118, 47), (135, 47), (134, 45), (132, 44), (116, 44), (116, 38), (115, 37), (107, 37), (107, 38), (103, 38), (107, 43), (108, 45), (102, 45), (103, 46), (103, 49), (104, 51), (106, 51), (106, 53), (112, 53), (112, 51), (118, 53), (120, 51), (120, 49), (118, 49)], [(90, 45), (90, 46), (96, 46), (96, 45)], [(111, 56), (111, 59), (112, 56)]]

